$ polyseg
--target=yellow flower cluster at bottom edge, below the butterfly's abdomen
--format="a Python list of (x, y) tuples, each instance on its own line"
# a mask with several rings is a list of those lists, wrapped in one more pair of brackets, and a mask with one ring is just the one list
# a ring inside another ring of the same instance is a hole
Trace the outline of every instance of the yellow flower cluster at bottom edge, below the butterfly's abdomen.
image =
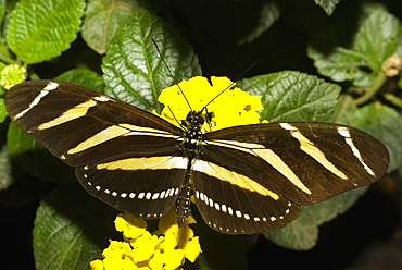
[(202, 251), (199, 237), (188, 226), (196, 220), (190, 214), (184, 228), (178, 228), (175, 208), (160, 220), (154, 233), (147, 231), (145, 220), (129, 213), (118, 214), (114, 222), (125, 242), (110, 241), (103, 260), (90, 262), (92, 270), (174, 270), (185, 258), (194, 262)]

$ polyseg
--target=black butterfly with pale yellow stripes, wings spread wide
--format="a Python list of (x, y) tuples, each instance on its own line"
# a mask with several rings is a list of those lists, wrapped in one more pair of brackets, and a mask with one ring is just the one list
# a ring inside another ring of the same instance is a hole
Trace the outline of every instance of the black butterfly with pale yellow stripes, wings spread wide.
[(360, 130), (329, 123), (267, 123), (201, 133), (201, 112), (177, 127), (96, 91), (30, 81), (5, 96), (12, 121), (75, 168), (85, 189), (145, 219), (176, 202), (187, 219), (191, 192), (212, 229), (251, 234), (294, 220), (301, 205), (377, 181), (386, 147)]

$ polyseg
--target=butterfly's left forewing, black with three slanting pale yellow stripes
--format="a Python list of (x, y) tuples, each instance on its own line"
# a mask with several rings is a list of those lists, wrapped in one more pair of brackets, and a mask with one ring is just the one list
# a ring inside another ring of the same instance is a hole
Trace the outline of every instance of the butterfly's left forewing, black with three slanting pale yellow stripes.
[(61, 82), (20, 84), (7, 94), (5, 102), (17, 126), (73, 167), (122, 151), (177, 150), (172, 138), (181, 134), (156, 115)]

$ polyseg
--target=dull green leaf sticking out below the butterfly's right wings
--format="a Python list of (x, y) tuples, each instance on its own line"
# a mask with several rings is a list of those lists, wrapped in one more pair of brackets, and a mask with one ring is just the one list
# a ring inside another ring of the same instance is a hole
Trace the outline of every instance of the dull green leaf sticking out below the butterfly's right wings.
[(275, 244), (294, 250), (307, 250), (315, 246), (318, 240), (318, 226), (346, 212), (367, 187), (361, 187), (337, 197), (303, 206), (299, 218), (280, 230), (274, 230), (264, 235)]

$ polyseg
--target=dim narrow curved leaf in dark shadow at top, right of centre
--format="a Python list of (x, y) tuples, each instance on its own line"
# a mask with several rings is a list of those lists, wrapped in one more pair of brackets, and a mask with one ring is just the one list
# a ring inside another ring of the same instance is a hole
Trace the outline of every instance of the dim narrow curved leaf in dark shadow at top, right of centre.
[(280, 7), (278, 2), (266, 2), (261, 7), (260, 10), (260, 20), (259, 24), (253, 28), (251, 33), (241, 40), (239, 44), (247, 44), (251, 42), (257, 37), (260, 37), (263, 33), (271, 28), (274, 23), (279, 19), (281, 13)]

